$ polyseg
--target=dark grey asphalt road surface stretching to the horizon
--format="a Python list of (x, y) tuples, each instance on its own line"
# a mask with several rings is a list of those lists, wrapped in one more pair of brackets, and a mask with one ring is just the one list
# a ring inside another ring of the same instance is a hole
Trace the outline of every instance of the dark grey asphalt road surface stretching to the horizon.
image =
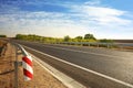
[(22, 41), (14, 42), (80, 66), (81, 68), (78, 68), (25, 47), (28, 52), (76, 79), (86, 87), (133, 88), (132, 52), (40, 44)]

